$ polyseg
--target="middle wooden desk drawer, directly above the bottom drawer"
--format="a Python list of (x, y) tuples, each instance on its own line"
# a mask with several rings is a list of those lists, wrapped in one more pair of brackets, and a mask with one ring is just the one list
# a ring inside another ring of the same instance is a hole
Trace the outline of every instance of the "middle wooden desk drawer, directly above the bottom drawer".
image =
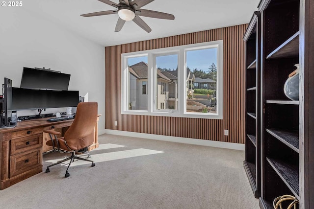
[(27, 137), (11, 140), (11, 155), (15, 155), (20, 152), (32, 150), (36, 147), (42, 147), (43, 134), (36, 134)]

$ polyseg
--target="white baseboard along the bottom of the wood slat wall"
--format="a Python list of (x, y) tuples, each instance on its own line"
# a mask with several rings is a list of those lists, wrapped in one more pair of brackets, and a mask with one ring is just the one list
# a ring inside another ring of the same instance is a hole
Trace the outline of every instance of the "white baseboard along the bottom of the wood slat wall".
[[(98, 134), (99, 133), (100, 132), (98, 132)], [(204, 139), (189, 139), (189, 138), (183, 138), (183, 137), (170, 137), (170, 136), (143, 134), (143, 133), (129, 132), (129, 131), (117, 131), (117, 130), (111, 130), (111, 129), (105, 129), (105, 134), (120, 135), (120, 136), (127, 136), (127, 137), (137, 137), (137, 138), (145, 138), (145, 139), (155, 139), (155, 140), (162, 140), (162, 141), (172, 141), (172, 142), (196, 144), (196, 145), (219, 147), (219, 148), (226, 148), (226, 149), (235, 149), (235, 150), (242, 150), (242, 151), (244, 151), (244, 148), (245, 148), (244, 144), (239, 144), (239, 143), (212, 141), (212, 140), (204, 140)]]

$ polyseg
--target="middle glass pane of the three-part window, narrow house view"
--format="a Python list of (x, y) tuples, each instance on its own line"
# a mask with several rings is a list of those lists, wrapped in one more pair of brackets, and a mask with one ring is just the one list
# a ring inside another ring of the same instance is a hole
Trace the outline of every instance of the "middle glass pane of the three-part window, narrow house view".
[(177, 110), (178, 107), (178, 55), (156, 56), (157, 110)]

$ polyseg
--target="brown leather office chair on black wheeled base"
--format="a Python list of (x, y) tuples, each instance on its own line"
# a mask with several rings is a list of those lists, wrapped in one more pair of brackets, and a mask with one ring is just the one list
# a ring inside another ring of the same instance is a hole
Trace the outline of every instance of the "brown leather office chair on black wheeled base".
[(64, 159), (63, 161), (59, 161), (57, 163), (53, 163), (52, 165), (47, 166), (46, 173), (50, 172), (49, 167), (59, 163), (70, 161), (68, 168), (65, 172), (65, 177), (69, 177), (70, 174), (68, 173), (68, 170), (71, 163), (74, 162), (75, 159), (91, 162), (92, 167), (95, 166), (95, 163), (93, 161), (78, 157), (76, 155), (76, 152), (87, 152), (88, 147), (93, 143), (94, 128), (98, 115), (97, 112), (97, 102), (80, 102), (78, 103), (78, 109), (75, 119), (69, 129), (65, 132), (64, 137), (57, 137), (57, 135), (61, 134), (60, 132), (56, 132), (53, 130), (44, 130), (45, 133), (48, 133), (50, 135), (51, 139), (47, 141), (46, 144), (52, 146), (53, 150), (61, 153), (72, 153), (70, 157)]

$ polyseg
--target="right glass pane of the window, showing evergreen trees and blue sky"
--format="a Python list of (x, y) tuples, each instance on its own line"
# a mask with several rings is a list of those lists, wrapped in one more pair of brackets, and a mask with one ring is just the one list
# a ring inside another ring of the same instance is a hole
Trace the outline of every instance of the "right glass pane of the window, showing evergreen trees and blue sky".
[(186, 51), (186, 112), (217, 113), (217, 47)]

